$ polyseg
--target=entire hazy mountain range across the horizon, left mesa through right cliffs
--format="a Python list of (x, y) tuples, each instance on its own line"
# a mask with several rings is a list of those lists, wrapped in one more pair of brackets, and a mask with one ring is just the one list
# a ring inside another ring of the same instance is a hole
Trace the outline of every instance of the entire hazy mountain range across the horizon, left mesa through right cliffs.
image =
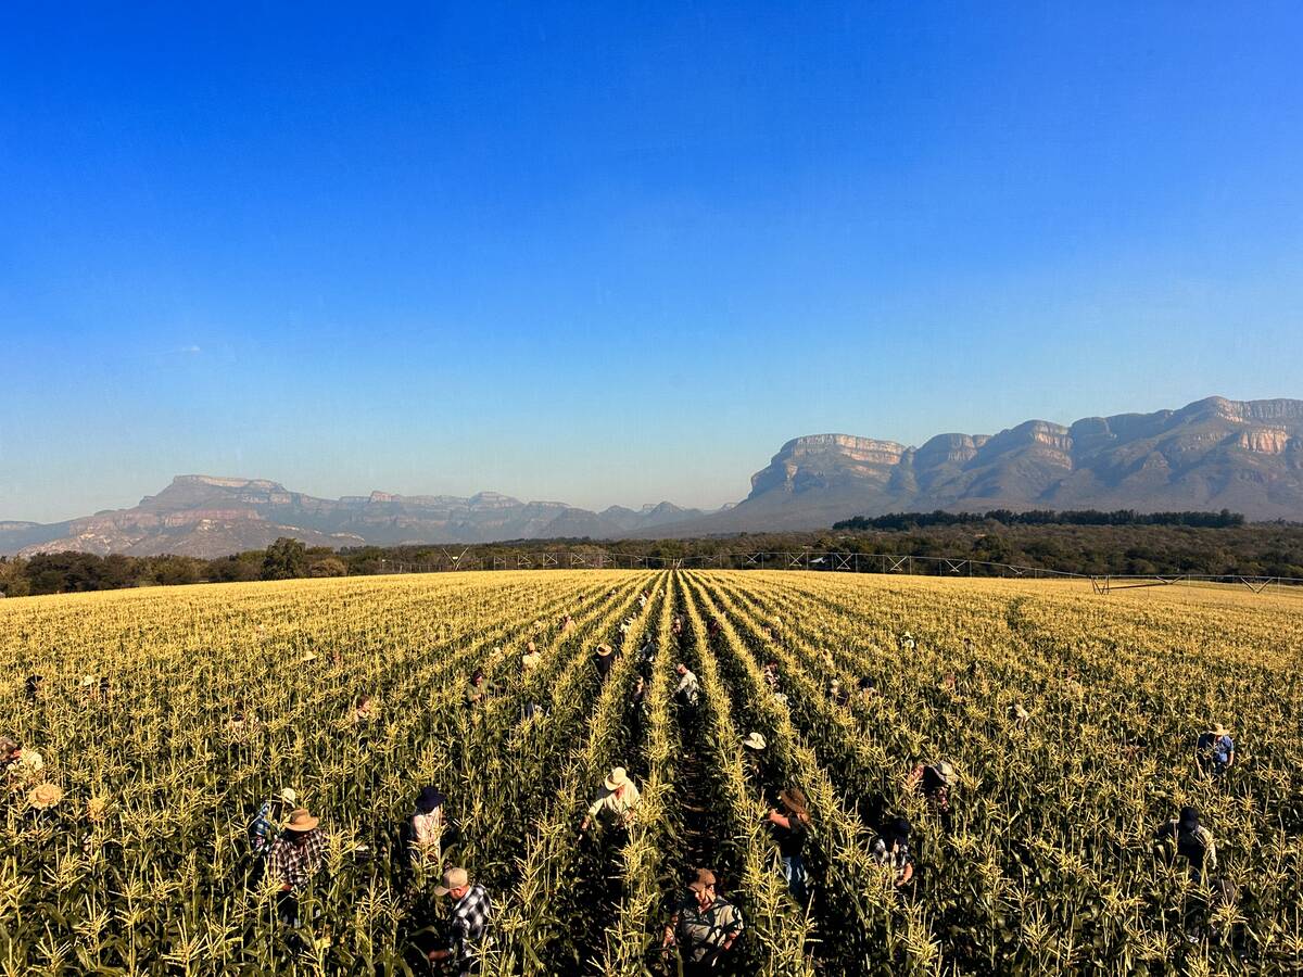
[(310, 546), (685, 537), (818, 529), (902, 511), (1221, 509), (1303, 518), (1303, 401), (1209, 397), (1179, 410), (1027, 421), (913, 448), (820, 434), (787, 442), (717, 512), (663, 502), (592, 512), (496, 492), (318, 499), (276, 482), (179, 475), (130, 509), (50, 525), (0, 522), (0, 554), (79, 550), (220, 556), (281, 535)]

